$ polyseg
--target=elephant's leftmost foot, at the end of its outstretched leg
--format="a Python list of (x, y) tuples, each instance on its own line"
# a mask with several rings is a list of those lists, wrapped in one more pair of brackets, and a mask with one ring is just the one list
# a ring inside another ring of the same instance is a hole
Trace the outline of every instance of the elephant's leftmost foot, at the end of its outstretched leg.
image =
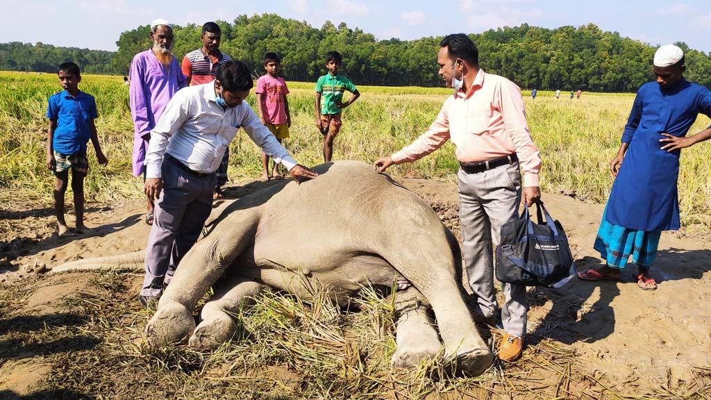
[(151, 348), (183, 342), (195, 330), (195, 320), (187, 307), (178, 302), (160, 304), (146, 325), (146, 342)]

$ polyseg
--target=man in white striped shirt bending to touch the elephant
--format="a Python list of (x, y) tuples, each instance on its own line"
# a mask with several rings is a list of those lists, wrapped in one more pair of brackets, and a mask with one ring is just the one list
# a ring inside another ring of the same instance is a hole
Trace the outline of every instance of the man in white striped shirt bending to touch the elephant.
[(156, 211), (146, 246), (141, 304), (158, 300), (198, 240), (212, 210), (215, 170), (240, 127), (274, 162), (284, 164), (297, 183), (318, 176), (297, 164), (243, 101), (252, 85), (247, 65), (223, 63), (214, 83), (176, 93), (151, 130), (145, 191), (155, 200)]

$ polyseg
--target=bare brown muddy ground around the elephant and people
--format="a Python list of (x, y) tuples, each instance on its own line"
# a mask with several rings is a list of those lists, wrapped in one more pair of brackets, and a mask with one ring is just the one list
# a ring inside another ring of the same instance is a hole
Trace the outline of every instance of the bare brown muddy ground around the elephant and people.
[[(432, 205), (459, 236), (456, 185), (399, 180)], [(267, 184), (233, 186), (228, 196), (244, 196)], [(68, 312), (58, 306), (61, 299), (91, 290), (87, 286), (90, 273), (43, 275), (41, 270), (80, 258), (137, 251), (145, 246), (149, 233), (142, 221), (141, 201), (87, 204), (86, 223), (94, 227), (92, 233), (59, 238), (53, 233), (50, 207), (14, 201), (9, 191), (0, 197), (4, 199), (0, 206), (0, 291), (18, 293), (19, 288), (23, 293), (19, 308), (9, 313), (0, 310), (0, 337), (13, 329), (9, 325), (18, 318)], [(559, 194), (544, 194), (544, 200), (565, 227), (578, 268), (602, 265), (592, 243), (603, 206)], [(574, 350), (580, 371), (604, 380), (620, 393), (711, 399), (709, 238), (704, 232), (663, 233), (652, 269), (659, 283), (656, 291), (637, 287), (634, 265), (628, 265), (620, 282), (574, 279), (558, 290), (532, 290), (528, 344), (535, 346), (549, 338)], [(141, 276), (125, 276), (127, 301), (137, 302)], [(43, 347), (0, 339), (0, 397), (51, 393), (47, 377), (55, 366), (47, 361), (49, 354)]]

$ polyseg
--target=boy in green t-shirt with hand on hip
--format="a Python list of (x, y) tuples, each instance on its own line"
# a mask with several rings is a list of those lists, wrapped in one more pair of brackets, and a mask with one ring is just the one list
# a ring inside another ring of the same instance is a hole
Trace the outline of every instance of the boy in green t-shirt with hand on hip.
[[(341, 111), (360, 97), (360, 92), (353, 82), (343, 75), (338, 75), (341, 60), (341, 54), (337, 51), (326, 53), (328, 73), (316, 82), (316, 127), (321, 135), (324, 135), (324, 162), (331, 161), (333, 139), (341, 130)], [(343, 92), (346, 90), (353, 95), (347, 102), (342, 102)]]

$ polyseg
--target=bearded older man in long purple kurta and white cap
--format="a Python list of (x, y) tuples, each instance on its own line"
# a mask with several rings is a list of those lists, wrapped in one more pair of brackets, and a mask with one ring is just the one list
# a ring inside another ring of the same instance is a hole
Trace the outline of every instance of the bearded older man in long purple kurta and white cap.
[[(178, 60), (173, 56), (173, 28), (164, 19), (151, 22), (153, 45), (131, 60), (129, 100), (134, 122), (133, 174), (146, 179), (144, 159), (151, 140), (151, 129), (163, 114), (173, 95), (188, 85)], [(153, 223), (153, 201), (146, 196), (145, 221)]]

